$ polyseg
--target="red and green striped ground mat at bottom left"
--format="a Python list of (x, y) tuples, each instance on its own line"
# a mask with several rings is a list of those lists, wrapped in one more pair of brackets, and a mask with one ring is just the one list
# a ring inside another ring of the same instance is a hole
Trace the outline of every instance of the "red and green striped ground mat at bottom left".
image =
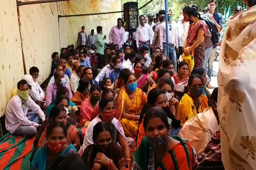
[(29, 170), (35, 137), (27, 138), (7, 133), (0, 138), (0, 169)]

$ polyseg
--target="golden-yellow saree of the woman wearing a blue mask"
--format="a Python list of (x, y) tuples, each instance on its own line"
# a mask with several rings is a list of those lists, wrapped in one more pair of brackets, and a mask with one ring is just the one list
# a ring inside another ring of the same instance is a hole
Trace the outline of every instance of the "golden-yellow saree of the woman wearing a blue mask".
[(146, 94), (141, 89), (137, 88), (135, 90), (133, 99), (130, 99), (128, 94), (126, 93), (126, 88), (121, 88), (117, 101), (117, 119), (123, 126), (125, 136), (132, 138), (136, 137), (139, 122), (121, 118), (123, 109), (125, 108), (125, 113), (128, 113), (130, 115), (139, 115), (145, 103)]

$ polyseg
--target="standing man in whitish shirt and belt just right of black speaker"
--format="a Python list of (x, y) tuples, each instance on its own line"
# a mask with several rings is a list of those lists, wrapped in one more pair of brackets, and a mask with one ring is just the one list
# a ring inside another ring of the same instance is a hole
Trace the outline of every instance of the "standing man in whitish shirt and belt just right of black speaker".
[(141, 15), (139, 17), (140, 26), (136, 30), (136, 45), (137, 45), (137, 53), (138, 48), (146, 47), (148, 49), (148, 53), (150, 55), (150, 49), (152, 48), (152, 31), (150, 31), (149, 25), (145, 25), (145, 17)]

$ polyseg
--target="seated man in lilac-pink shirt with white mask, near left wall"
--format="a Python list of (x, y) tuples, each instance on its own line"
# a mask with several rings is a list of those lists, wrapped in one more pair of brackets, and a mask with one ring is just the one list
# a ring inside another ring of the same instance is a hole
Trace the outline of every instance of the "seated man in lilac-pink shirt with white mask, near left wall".
[(64, 72), (59, 70), (54, 73), (55, 83), (49, 84), (46, 88), (46, 106), (49, 106), (56, 99), (56, 92), (59, 87), (65, 86), (68, 89), (69, 99), (73, 97), (70, 87), (65, 84), (64, 75)]

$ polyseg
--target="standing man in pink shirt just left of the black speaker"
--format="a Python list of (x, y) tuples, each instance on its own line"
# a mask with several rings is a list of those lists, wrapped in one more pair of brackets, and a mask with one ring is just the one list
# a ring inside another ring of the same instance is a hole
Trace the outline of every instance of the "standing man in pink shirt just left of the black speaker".
[(109, 44), (118, 44), (121, 51), (123, 51), (123, 44), (125, 39), (125, 31), (122, 27), (122, 19), (117, 19), (117, 26), (112, 27), (109, 33)]

